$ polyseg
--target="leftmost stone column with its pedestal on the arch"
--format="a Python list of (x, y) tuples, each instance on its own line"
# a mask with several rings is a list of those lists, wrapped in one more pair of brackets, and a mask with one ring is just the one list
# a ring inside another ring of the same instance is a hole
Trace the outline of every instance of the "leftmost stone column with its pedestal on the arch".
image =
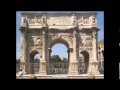
[(20, 56), (20, 68), (23, 73), (26, 74), (26, 31), (21, 31), (21, 56)]

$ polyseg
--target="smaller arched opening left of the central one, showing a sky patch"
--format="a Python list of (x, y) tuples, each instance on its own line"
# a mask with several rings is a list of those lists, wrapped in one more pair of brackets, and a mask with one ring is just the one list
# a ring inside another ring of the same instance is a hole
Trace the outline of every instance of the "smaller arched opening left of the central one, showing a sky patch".
[(39, 72), (40, 67), (40, 54), (38, 51), (32, 51), (30, 53), (30, 73), (37, 74)]

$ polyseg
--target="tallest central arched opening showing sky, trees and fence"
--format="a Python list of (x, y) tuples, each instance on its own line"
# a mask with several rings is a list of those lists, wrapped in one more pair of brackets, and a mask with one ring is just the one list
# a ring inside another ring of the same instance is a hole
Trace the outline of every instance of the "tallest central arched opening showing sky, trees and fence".
[(50, 74), (67, 74), (69, 62), (69, 44), (63, 39), (55, 39), (51, 42), (50, 48)]

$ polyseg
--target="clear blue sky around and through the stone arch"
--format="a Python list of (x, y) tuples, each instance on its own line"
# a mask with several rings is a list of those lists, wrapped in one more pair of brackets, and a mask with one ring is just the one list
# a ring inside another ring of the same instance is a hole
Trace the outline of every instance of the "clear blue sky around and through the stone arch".
[[(104, 39), (104, 12), (98, 12), (97, 15), (97, 23), (98, 27), (100, 28), (98, 32), (98, 41)], [(19, 31), (21, 24), (21, 14), (20, 12), (16, 12), (16, 58), (20, 58), (20, 36), (21, 33)], [(59, 55), (60, 57), (68, 58), (67, 47), (63, 44), (55, 44), (52, 47), (51, 55)], [(39, 57), (40, 55), (36, 55), (35, 58)]]

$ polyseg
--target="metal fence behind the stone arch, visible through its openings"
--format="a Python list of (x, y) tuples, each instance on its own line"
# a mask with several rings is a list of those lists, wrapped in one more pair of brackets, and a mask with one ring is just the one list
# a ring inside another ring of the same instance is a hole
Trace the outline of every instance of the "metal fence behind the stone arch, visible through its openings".
[[(68, 63), (49, 63), (49, 74), (68, 74), (69, 64)], [(31, 63), (30, 67), (32, 68), (32, 72), (35, 74), (39, 73), (39, 63)], [(87, 74), (88, 71), (88, 63), (78, 63), (78, 72), (79, 74)], [(104, 74), (104, 67), (98, 68), (101, 74)], [(16, 65), (16, 73), (19, 72), (20, 65)], [(74, 71), (73, 71), (74, 74)]]

